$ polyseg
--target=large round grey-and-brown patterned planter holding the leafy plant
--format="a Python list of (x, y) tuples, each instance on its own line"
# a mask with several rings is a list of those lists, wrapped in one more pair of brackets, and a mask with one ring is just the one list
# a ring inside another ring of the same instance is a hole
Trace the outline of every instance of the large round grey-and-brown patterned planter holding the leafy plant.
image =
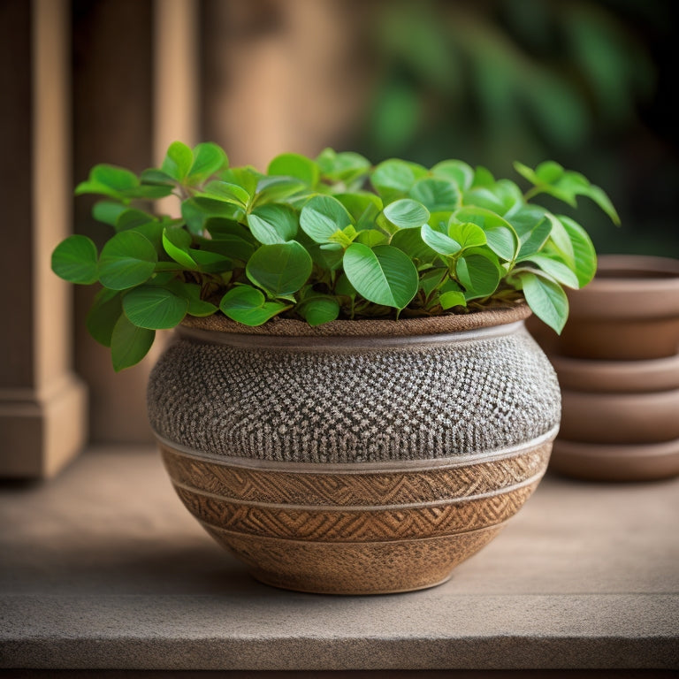
[(179, 497), (264, 583), (367, 594), (444, 582), (545, 472), (560, 391), (528, 314), (192, 319), (149, 380)]

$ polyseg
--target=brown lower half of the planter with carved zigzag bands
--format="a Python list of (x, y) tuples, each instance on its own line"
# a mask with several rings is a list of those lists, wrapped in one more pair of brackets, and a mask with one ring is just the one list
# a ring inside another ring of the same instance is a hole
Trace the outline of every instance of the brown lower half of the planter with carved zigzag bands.
[(444, 582), (523, 506), (552, 443), (462, 466), (344, 473), (246, 468), (160, 447), (179, 498), (257, 579), (364, 594)]

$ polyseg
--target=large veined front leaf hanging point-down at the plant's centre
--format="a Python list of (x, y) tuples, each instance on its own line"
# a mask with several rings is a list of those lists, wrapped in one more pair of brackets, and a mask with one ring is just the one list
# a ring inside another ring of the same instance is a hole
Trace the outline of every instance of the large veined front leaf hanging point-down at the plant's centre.
[(358, 294), (376, 304), (404, 309), (417, 293), (415, 264), (391, 245), (370, 249), (352, 243), (344, 254), (344, 271)]

